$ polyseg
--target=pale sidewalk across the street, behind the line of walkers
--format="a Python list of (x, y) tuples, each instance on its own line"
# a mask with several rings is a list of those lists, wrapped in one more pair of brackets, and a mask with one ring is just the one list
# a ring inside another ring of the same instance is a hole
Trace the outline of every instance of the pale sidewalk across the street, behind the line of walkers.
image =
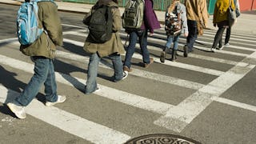
[[(24, 0), (0, 0), (0, 3), (6, 3), (11, 5), (20, 5)], [(80, 14), (86, 14), (90, 11), (92, 5), (75, 3), (75, 2), (56, 2), (58, 5), (58, 10), (75, 12)], [(124, 11), (124, 8), (120, 7), (121, 14)], [(165, 12), (155, 10), (155, 13), (158, 16), (158, 20), (160, 22), (164, 22)], [(212, 30), (218, 30), (217, 27), (213, 26), (213, 16), (210, 15), (208, 28)], [(256, 35), (256, 11), (250, 11), (246, 13), (242, 13), (238, 18), (238, 22), (234, 24), (232, 27), (231, 33), (237, 34), (254, 34)]]

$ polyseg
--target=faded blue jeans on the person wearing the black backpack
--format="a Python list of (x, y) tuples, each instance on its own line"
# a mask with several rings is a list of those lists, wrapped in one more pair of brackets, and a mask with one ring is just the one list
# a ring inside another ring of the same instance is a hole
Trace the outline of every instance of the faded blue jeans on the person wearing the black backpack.
[[(114, 68), (114, 82), (118, 82), (123, 77), (122, 60), (120, 54), (110, 54), (109, 58), (113, 63)], [(88, 64), (88, 74), (86, 81), (86, 94), (93, 93), (97, 89), (97, 74), (98, 74), (98, 63), (101, 58), (97, 53), (90, 55), (90, 62)]]

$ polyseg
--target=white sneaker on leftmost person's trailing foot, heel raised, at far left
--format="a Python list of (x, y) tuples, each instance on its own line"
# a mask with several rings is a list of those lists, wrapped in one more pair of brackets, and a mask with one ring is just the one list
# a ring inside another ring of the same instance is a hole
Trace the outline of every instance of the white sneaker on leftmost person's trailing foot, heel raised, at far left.
[(7, 103), (9, 109), (20, 119), (26, 118), (24, 106), (20, 106), (17, 102)]

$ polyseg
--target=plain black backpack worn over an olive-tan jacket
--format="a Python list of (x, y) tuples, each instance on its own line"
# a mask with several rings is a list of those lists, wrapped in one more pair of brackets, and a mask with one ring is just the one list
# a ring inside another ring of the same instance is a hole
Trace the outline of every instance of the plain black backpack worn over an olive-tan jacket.
[(94, 43), (104, 43), (110, 40), (112, 36), (113, 16), (110, 6), (93, 7), (88, 28), (89, 37)]

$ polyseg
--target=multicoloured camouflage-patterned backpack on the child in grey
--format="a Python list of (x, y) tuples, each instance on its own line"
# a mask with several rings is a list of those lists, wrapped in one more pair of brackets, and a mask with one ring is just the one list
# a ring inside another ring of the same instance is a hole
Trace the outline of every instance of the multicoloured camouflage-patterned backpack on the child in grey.
[(177, 35), (182, 33), (182, 10), (181, 6), (176, 5), (171, 13), (166, 12), (167, 35)]

